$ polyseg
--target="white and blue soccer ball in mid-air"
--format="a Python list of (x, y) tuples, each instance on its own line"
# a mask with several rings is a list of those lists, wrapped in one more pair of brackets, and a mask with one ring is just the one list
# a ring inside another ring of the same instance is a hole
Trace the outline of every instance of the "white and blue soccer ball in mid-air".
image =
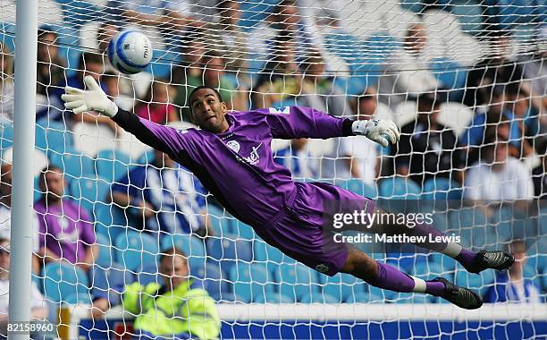
[(152, 44), (138, 30), (122, 30), (108, 43), (108, 60), (122, 73), (142, 72), (152, 61)]

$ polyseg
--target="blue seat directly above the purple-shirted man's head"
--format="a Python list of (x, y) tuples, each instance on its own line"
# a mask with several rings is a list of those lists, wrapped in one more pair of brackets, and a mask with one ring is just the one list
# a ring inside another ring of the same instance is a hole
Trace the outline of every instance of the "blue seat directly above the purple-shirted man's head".
[(83, 176), (91, 177), (90, 174), (95, 174), (95, 166), (93, 159), (83, 155), (81, 151), (73, 148), (68, 148), (57, 151), (56, 149), (48, 149), (48, 157), (54, 166), (57, 166), (63, 171), (63, 174), (68, 176), (68, 180), (78, 179)]

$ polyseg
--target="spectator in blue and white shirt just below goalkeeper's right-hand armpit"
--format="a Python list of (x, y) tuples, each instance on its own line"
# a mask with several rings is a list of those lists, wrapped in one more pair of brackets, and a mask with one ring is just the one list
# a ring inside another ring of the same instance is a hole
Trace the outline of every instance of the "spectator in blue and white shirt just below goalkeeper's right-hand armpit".
[(273, 160), (288, 168), (294, 179), (316, 178), (316, 159), (308, 154), (306, 146), (307, 138), (291, 140), (289, 147), (275, 152)]

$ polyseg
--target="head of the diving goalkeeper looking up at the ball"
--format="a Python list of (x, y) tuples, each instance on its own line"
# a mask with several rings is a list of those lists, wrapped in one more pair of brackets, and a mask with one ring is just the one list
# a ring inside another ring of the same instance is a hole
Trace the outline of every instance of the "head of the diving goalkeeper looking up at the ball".
[(189, 98), (194, 123), (208, 132), (225, 132), (230, 127), (224, 117), (226, 104), (221, 102), (213, 89), (198, 89)]

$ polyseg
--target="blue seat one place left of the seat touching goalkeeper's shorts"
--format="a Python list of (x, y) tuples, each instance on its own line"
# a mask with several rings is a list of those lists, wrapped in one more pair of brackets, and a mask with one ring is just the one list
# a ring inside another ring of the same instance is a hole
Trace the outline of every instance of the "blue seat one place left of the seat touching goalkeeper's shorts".
[(237, 262), (230, 269), (230, 280), (233, 292), (240, 296), (241, 302), (257, 302), (265, 300), (265, 296), (273, 293), (273, 277), (268, 274), (265, 265), (259, 263)]

